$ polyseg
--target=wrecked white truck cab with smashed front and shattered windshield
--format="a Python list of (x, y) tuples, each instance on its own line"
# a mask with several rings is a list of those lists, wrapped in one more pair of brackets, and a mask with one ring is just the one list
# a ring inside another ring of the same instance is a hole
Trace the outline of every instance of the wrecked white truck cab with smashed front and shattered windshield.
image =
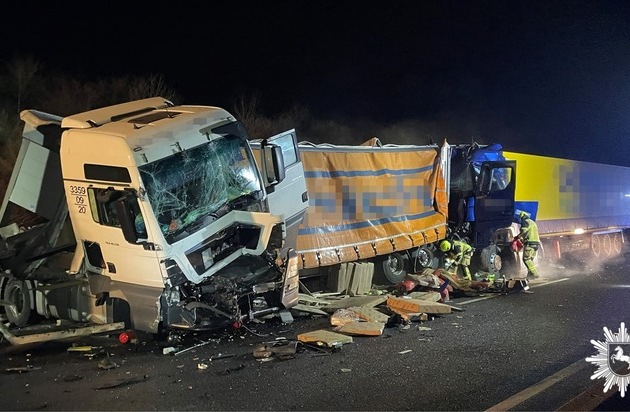
[(298, 225), (308, 205), (299, 156), (285, 162), (265, 141), (259, 168), (227, 111), (160, 97), (21, 118), (0, 210), (11, 323), (205, 330), (297, 303), (287, 222)]

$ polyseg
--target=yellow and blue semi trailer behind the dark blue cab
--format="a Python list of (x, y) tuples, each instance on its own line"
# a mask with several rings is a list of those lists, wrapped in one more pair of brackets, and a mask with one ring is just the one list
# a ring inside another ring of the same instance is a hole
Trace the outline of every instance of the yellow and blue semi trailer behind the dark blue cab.
[(515, 210), (538, 223), (541, 258), (577, 250), (622, 251), (630, 227), (630, 167), (504, 152), (516, 161)]

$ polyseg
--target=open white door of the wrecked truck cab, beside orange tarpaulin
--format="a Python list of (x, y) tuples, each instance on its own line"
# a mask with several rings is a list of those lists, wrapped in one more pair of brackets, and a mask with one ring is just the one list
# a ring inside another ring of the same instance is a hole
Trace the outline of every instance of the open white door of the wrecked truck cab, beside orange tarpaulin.
[(297, 230), (308, 208), (304, 168), (294, 129), (252, 142), (267, 190), (269, 211), (284, 216), (286, 245), (295, 248)]

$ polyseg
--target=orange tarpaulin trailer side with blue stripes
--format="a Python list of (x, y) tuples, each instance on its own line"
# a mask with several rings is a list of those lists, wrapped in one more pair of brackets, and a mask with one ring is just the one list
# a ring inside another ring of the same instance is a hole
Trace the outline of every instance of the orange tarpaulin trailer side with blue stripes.
[(391, 253), (446, 233), (440, 152), (429, 146), (300, 148), (309, 209), (302, 268)]

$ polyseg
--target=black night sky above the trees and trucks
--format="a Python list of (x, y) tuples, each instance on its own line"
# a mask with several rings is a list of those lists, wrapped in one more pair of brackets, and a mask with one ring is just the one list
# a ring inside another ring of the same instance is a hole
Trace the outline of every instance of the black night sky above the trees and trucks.
[(270, 115), (301, 104), (356, 127), (405, 125), (418, 144), (630, 166), (628, 1), (19, 4), (0, 13), (0, 62), (160, 74), (182, 103), (257, 94)]

